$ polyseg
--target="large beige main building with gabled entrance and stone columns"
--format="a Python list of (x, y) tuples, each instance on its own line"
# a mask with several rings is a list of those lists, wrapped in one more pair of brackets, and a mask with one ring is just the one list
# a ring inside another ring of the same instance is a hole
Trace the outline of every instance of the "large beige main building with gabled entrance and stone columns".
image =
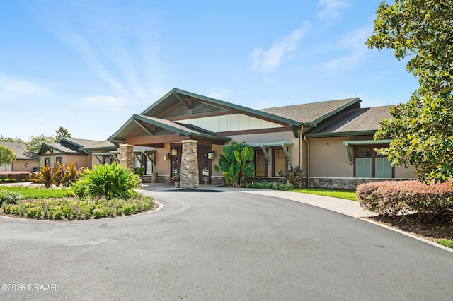
[(300, 166), (316, 187), (415, 178), (413, 168), (390, 167), (374, 152), (389, 143), (372, 140), (384, 117), (390, 117), (389, 107), (363, 109), (359, 98), (253, 110), (175, 88), (108, 140), (152, 148), (159, 182), (179, 173), (186, 187), (207, 176), (208, 184), (223, 181), (213, 165), (231, 141), (253, 146), (258, 179), (278, 179), (289, 165)]

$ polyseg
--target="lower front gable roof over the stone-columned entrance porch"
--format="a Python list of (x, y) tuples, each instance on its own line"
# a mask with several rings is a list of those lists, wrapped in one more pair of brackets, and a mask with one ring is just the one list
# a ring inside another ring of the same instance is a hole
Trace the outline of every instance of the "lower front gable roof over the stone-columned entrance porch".
[[(109, 141), (123, 141), (125, 137), (132, 134), (137, 130), (137, 124), (152, 124), (156, 128), (164, 129), (166, 131), (171, 131), (177, 135), (188, 136), (188, 137), (200, 137), (207, 138), (217, 141), (230, 141), (231, 138), (208, 131), (207, 129), (202, 129), (198, 126), (192, 124), (183, 124), (181, 122), (172, 122), (167, 119), (161, 119), (156, 117), (144, 116), (141, 114), (133, 114), (125, 124), (118, 129), (115, 134), (108, 138)], [(147, 131), (149, 135), (154, 136), (156, 133), (153, 133), (151, 129), (148, 129), (146, 125), (142, 124), (144, 131)]]

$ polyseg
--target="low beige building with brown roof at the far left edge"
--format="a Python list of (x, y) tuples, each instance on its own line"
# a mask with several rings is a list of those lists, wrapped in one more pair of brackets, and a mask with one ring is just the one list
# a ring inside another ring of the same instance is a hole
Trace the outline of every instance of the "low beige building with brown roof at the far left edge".
[(0, 146), (11, 148), (16, 153), (16, 160), (11, 164), (0, 164), (0, 172), (30, 172), (38, 169), (40, 155), (28, 151), (24, 143), (0, 141)]

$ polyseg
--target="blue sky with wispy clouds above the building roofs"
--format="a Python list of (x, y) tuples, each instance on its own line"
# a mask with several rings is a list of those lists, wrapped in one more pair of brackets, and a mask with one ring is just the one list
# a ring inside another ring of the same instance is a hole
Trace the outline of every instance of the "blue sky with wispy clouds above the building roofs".
[(255, 109), (418, 86), (369, 50), (381, 0), (18, 0), (0, 8), (0, 134), (104, 140), (180, 88)]

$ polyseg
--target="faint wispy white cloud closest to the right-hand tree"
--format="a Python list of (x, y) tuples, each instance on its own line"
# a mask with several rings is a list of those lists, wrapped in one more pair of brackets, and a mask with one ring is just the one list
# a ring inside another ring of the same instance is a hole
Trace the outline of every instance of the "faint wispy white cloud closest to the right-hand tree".
[(368, 52), (365, 42), (371, 33), (372, 27), (367, 26), (365, 28), (351, 30), (342, 35), (340, 40), (333, 45), (329, 45), (329, 47), (335, 49), (336, 52), (343, 50), (345, 54), (321, 64), (321, 68), (325, 69), (330, 75), (339, 73), (340, 71), (354, 69), (355, 66), (365, 59), (366, 53)]

